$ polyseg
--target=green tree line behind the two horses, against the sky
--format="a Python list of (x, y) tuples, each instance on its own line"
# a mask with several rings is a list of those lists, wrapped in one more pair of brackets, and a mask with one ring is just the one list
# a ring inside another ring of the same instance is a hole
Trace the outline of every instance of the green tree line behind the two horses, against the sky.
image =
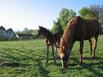
[[(79, 16), (85, 19), (97, 18), (101, 24), (101, 34), (103, 34), (103, 5), (91, 5), (89, 7), (82, 7), (78, 11)], [(53, 27), (51, 29), (52, 32), (59, 32), (60, 35), (63, 34), (63, 31), (70, 21), (70, 19), (76, 16), (77, 13), (72, 9), (63, 8), (59, 12), (59, 16), (56, 20), (53, 21)], [(17, 33), (21, 34), (30, 34), (34, 37), (37, 36), (38, 30), (24, 28), (23, 31), (18, 31)]]

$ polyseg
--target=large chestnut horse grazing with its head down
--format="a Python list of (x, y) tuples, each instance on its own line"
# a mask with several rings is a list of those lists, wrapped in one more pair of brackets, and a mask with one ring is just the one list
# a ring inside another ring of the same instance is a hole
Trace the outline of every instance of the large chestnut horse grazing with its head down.
[(97, 19), (86, 20), (80, 16), (75, 16), (67, 24), (62, 39), (60, 41), (60, 49), (58, 51), (61, 58), (62, 67), (67, 67), (67, 61), (70, 57), (71, 49), (75, 41), (80, 41), (80, 63), (83, 62), (83, 43), (89, 40), (91, 55), (95, 57), (97, 47), (97, 39), (99, 34), (99, 22)]

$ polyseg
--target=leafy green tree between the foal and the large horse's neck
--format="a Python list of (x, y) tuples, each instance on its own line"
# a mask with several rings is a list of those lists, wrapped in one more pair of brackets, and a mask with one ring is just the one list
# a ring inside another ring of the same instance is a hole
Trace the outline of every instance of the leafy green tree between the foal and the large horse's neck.
[(59, 17), (57, 18), (57, 21), (53, 22), (53, 32), (61, 32), (63, 33), (65, 27), (67, 26), (67, 23), (70, 21), (70, 19), (76, 15), (76, 12), (73, 10), (68, 10), (66, 8), (63, 8), (60, 13)]

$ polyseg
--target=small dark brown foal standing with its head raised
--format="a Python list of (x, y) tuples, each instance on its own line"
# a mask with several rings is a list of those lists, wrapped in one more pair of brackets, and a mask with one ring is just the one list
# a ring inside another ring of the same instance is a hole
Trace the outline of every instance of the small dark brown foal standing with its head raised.
[[(52, 54), (54, 58), (54, 63), (56, 63), (56, 53), (57, 53), (57, 47), (59, 47), (60, 43), (60, 36), (59, 33), (52, 33), (48, 29), (39, 26), (38, 30), (38, 36), (43, 35), (46, 39), (46, 64), (48, 63), (48, 56), (49, 56), (49, 46), (52, 46)], [(56, 51), (54, 51), (54, 46), (56, 46)]]

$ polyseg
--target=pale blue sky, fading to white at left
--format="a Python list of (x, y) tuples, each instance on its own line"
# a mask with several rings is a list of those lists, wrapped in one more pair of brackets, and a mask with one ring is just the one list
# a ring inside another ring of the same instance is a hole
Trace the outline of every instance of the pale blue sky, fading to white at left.
[(82, 7), (103, 5), (103, 0), (0, 0), (0, 26), (14, 31), (51, 29), (62, 8), (78, 13)]

